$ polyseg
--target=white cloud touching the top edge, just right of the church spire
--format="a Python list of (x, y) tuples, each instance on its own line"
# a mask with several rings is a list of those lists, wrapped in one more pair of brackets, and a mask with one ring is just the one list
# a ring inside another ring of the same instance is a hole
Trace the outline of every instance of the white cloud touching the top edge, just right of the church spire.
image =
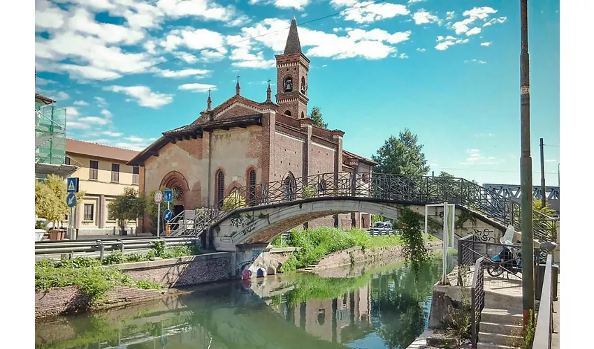
[(345, 20), (356, 23), (376, 22), (398, 15), (410, 14), (410, 10), (405, 5), (397, 5), (396, 3), (374, 3), (373, 1), (357, 0), (331, 0), (330, 3), (336, 8), (346, 7), (347, 9), (342, 13), (342, 16)]

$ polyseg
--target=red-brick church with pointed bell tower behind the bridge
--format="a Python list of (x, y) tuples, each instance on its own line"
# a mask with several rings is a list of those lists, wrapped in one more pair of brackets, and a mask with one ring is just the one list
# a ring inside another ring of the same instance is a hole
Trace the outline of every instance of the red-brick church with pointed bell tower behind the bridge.
[[(297, 23), (291, 20), (287, 45), (277, 54), (276, 103), (270, 82), (266, 101), (236, 94), (206, 109), (189, 125), (166, 131), (129, 165), (140, 167), (141, 193), (174, 191), (173, 213), (221, 207), (235, 188), (272, 181), (291, 183), (314, 174), (358, 172), (370, 176), (375, 163), (342, 149), (345, 133), (315, 126), (307, 117), (310, 60), (301, 51)], [(370, 177), (367, 177), (370, 178)], [(337, 214), (307, 223), (308, 228), (367, 228), (370, 214)], [(150, 228), (143, 219), (143, 230)]]

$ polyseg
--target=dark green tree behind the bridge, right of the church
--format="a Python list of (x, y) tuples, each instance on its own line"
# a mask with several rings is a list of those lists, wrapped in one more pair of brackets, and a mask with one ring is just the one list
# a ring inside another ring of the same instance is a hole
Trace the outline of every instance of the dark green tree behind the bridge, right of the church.
[(372, 159), (378, 163), (373, 168), (377, 173), (404, 174), (407, 176), (422, 176), (429, 172), (429, 166), (423, 144), (417, 144), (418, 138), (408, 128), (393, 135), (377, 150)]

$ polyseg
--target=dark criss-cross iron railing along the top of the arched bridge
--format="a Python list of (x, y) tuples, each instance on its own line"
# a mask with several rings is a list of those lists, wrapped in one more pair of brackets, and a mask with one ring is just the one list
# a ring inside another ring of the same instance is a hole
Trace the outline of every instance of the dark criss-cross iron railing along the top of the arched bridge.
[[(418, 204), (448, 202), (482, 214), (502, 225), (512, 223), (521, 231), (521, 207), (517, 202), (462, 178), (407, 177), (398, 174), (363, 174), (339, 172), (314, 174), (303, 178), (288, 176), (280, 181), (242, 186), (230, 195), (240, 195), (225, 206), (227, 211), (239, 207), (270, 205), (311, 198), (373, 198)], [(558, 218), (533, 212), (534, 237), (539, 241), (556, 241)]]

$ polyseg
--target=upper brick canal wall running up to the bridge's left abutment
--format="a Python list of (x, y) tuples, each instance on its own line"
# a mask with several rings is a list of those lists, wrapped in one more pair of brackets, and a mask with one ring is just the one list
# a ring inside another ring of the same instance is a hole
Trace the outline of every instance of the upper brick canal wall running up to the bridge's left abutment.
[(231, 279), (230, 253), (206, 253), (188, 257), (125, 263), (118, 266), (135, 280), (150, 280), (164, 287), (198, 285)]

